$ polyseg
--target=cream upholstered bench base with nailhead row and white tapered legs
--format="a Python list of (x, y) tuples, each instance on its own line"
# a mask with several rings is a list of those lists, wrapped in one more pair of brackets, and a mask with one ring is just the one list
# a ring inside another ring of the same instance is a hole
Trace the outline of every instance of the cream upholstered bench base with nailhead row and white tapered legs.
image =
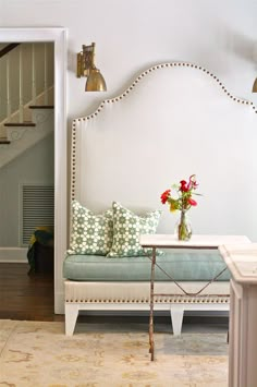
[[(204, 282), (182, 283), (193, 292)], [(130, 293), (130, 298), (123, 297), (123, 292)], [(184, 311), (229, 311), (229, 281), (212, 282), (197, 297), (180, 292), (174, 282), (156, 283), (155, 310), (170, 312), (174, 335), (181, 334)], [(65, 332), (69, 336), (73, 335), (79, 311), (149, 311), (149, 283), (66, 280)]]

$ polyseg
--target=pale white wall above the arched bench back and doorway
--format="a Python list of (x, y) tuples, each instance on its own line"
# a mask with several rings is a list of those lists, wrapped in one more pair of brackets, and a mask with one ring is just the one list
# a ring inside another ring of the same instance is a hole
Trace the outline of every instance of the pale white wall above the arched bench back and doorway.
[[(114, 96), (146, 66), (189, 61), (213, 72), (238, 97), (254, 100), (256, 0), (0, 0), (0, 25), (68, 28), (69, 128)], [(96, 41), (108, 92), (84, 92), (76, 52)], [(189, 87), (189, 85), (188, 85)]]

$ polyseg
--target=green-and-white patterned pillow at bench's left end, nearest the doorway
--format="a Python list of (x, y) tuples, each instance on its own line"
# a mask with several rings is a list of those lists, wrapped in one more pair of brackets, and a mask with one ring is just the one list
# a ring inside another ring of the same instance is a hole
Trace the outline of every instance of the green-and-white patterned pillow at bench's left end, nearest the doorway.
[(95, 215), (72, 202), (72, 234), (68, 254), (107, 255), (113, 238), (112, 209)]

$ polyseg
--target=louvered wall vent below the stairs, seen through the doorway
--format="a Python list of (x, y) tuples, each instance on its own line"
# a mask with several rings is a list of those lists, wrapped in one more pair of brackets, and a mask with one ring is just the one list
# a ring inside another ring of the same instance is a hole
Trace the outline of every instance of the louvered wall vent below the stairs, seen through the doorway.
[(22, 245), (28, 245), (37, 227), (54, 226), (53, 185), (22, 186)]

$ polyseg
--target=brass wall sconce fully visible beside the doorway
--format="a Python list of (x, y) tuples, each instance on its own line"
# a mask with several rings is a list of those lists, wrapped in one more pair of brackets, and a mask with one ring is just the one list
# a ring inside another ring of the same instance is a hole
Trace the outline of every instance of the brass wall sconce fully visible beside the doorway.
[(77, 53), (76, 76), (87, 77), (85, 92), (106, 92), (106, 81), (95, 65), (95, 43), (90, 46), (82, 46), (82, 51)]

